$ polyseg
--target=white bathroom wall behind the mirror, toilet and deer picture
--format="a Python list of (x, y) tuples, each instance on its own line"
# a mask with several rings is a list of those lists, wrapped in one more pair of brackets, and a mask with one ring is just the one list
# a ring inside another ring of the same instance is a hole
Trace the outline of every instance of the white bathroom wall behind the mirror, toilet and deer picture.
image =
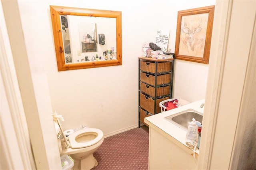
[[(143, 42), (154, 42), (156, 30), (167, 28), (168, 48), (174, 52), (178, 10), (214, 5), (215, 0), (88, 2), (18, 0), (30, 67), (43, 65), (52, 109), (64, 116), (64, 129), (84, 125), (100, 128), (106, 136), (138, 126), (138, 57)], [(122, 11), (123, 65), (58, 72), (50, 5)], [(176, 60), (174, 97), (189, 102), (204, 98), (207, 74), (206, 64)]]

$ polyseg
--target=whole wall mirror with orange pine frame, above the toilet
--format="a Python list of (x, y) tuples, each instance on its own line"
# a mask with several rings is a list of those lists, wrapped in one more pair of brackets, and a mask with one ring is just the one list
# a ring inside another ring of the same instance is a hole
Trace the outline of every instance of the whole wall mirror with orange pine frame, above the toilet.
[(122, 65), (122, 13), (50, 6), (58, 71)]

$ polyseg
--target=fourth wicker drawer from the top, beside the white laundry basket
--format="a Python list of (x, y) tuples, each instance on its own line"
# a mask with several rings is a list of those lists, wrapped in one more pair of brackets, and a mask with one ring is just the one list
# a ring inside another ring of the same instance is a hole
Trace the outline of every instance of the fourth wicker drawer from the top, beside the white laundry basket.
[[(166, 100), (166, 99), (169, 99), (169, 97), (157, 98), (156, 99), (156, 113), (161, 112), (161, 107), (159, 106), (159, 103), (161, 101)], [(155, 104), (155, 101), (152, 98), (140, 93), (140, 106), (143, 109), (147, 110), (149, 113), (154, 114), (154, 104)]]

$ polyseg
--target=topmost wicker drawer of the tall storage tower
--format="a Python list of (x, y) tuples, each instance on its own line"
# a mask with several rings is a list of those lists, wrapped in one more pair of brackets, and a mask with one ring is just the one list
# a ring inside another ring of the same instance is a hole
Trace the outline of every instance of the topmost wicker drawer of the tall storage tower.
[[(157, 73), (170, 72), (172, 69), (172, 62), (159, 62), (157, 63)], [(156, 73), (156, 63), (154, 61), (140, 60), (140, 70), (150, 73)]]

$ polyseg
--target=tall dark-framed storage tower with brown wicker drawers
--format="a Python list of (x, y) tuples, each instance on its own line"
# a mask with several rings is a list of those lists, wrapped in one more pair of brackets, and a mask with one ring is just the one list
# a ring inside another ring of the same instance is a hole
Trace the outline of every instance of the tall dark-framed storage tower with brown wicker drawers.
[[(173, 54), (174, 55), (174, 54)], [(161, 112), (159, 103), (172, 98), (174, 56), (172, 59), (138, 57), (139, 127), (145, 117)]]

